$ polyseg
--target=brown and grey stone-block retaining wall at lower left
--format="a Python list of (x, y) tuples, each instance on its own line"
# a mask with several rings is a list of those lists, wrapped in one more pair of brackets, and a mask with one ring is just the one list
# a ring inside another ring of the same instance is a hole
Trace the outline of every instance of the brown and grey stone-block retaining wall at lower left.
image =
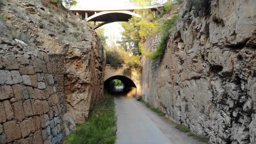
[(65, 109), (59, 102), (63, 55), (39, 49), (20, 52), (16, 48), (25, 47), (18, 43), (0, 43), (7, 47), (0, 54), (0, 144), (59, 143)]

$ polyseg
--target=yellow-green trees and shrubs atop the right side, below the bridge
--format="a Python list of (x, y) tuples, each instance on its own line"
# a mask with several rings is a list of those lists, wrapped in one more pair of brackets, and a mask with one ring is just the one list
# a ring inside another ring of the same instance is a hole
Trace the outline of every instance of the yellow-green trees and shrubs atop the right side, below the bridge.
[[(179, 0), (179, 3), (182, 2), (182, 0)], [(123, 35), (123, 40), (126, 40), (125, 42), (127, 45), (139, 49), (144, 56), (150, 59), (157, 59), (164, 53), (164, 49), (166, 49), (169, 33), (174, 29), (174, 23), (177, 20), (178, 15), (173, 15), (171, 19), (166, 20), (161, 20), (161, 17), (164, 16), (164, 14), (173, 13), (177, 7), (178, 4), (173, 4), (171, 0), (168, 0), (164, 3), (163, 7), (158, 8), (157, 14), (150, 9), (135, 10), (135, 12), (141, 15), (142, 18), (133, 16), (128, 21), (128, 24), (122, 24), (122, 27), (125, 29), (125, 31), (121, 33)], [(143, 42), (146, 37), (155, 33), (161, 33), (161, 43), (154, 52), (149, 52), (141, 43), (139, 43), (139, 41)]]

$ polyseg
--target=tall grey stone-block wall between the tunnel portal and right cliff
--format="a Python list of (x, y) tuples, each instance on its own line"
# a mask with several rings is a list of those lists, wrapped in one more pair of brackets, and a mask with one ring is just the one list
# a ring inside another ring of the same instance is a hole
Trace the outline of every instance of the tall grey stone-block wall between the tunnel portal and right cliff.
[[(161, 42), (161, 35), (154, 34), (148, 36), (144, 47), (149, 52), (154, 52), (159, 43)], [(141, 56), (142, 63), (142, 80), (141, 80), (141, 95), (144, 98), (144, 101), (149, 102), (151, 105), (156, 106), (157, 98), (157, 77), (158, 77), (158, 66), (160, 59), (149, 59), (146, 56)]]

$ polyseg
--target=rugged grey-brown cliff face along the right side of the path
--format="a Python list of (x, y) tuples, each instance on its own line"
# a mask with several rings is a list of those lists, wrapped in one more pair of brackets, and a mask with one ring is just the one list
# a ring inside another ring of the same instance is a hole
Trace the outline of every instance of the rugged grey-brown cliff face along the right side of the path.
[(197, 17), (186, 3), (152, 103), (210, 143), (255, 144), (256, 1), (211, 0)]

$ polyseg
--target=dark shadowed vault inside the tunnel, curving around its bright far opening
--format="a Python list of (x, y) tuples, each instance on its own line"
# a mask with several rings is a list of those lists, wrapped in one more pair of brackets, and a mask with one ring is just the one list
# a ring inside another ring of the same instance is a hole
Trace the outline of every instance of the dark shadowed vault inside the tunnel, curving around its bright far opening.
[(105, 91), (113, 93), (113, 91), (111, 89), (111, 82), (112, 82), (112, 80), (115, 80), (115, 79), (118, 79), (121, 82), (123, 82), (123, 84), (124, 84), (123, 93), (126, 93), (130, 96), (133, 96), (133, 97), (136, 96), (137, 86), (135, 85), (135, 83), (131, 79), (129, 79), (128, 77), (123, 76), (123, 75), (115, 75), (115, 76), (112, 76), (112, 77), (106, 79), (105, 82), (104, 82)]

